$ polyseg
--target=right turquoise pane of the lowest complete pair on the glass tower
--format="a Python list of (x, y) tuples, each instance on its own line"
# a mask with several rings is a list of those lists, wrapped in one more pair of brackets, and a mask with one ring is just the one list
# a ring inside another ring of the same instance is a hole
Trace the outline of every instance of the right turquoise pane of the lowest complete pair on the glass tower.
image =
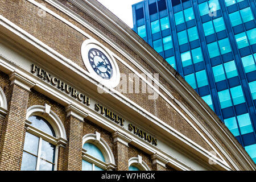
[(251, 119), (248, 113), (238, 115), (237, 120), (242, 135), (253, 132), (253, 127), (251, 126)]

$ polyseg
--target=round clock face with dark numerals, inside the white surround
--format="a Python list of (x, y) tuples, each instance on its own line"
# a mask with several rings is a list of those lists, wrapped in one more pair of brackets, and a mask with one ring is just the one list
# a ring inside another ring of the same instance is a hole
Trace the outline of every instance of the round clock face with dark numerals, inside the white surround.
[(98, 76), (106, 80), (109, 80), (113, 76), (112, 65), (103, 52), (92, 48), (88, 52), (88, 59), (93, 71), (96, 72)]

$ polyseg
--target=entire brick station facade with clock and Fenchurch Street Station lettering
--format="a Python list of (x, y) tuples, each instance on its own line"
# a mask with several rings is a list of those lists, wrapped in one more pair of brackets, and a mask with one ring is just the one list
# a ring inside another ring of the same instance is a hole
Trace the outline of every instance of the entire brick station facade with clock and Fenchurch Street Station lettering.
[(0, 170), (255, 170), (191, 86), (97, 1), (0, 4)]

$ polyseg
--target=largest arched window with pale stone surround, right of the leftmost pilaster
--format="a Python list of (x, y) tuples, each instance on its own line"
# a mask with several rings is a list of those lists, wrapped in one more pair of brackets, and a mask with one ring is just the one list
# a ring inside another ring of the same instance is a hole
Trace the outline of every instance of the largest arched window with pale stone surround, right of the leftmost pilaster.
[[(58, 126), (61, 128), (57, 129)], [(66, 141), (64, 127), (57, 115), (50, 110), (49, 105), (28, 108), (20, 170), (55, 170), (57, 149)]]

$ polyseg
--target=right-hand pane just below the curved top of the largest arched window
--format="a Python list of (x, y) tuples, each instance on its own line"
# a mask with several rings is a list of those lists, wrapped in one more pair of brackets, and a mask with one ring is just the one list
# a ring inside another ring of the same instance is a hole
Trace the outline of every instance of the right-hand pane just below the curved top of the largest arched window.
[(41, 158), (48, 160), (51, 163), (54, 163), (55, 160), (55, 145), (42, 140), (42, 151)]

